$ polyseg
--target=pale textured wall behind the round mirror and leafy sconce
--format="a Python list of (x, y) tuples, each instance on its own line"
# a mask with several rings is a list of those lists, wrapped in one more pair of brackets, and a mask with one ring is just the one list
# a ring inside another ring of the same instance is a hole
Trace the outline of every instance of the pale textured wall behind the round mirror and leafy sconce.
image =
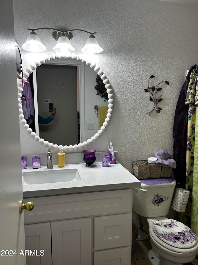
[[(131, 171), (131, 160), (147, 159), (160, 148), (173, 152), (173, 119), (186, 70), (198, 64), (197, 6), (155, 0), (68, 0), (14, 2), (15, 37), (21, 46), (27, 28), (80, 28), (97, 31), (104, 51), (95, 56), (97, 64), (114, 89), (114, 113), (105, 133), (89, 147), (105, 151), (110, 141), (118, 160)], [(50, 31), (38, 32), (43, 44), (53, 47)], [(73, 45), (87, 35), (74, 33)], [(82, 40), (83, 39), (83, 40)], [(51, 52), (52, 50), (48, 50)], [(33, 56), (23, 51), (24, 67)], [(148, 116), (152, 108), (144, 92), (150, 75), (162, 86), (161, 114)], [(47, 148), (30, 139), (21, 129), (22, 154), (45, 154)], [(57, 153), (54, 151), (54, 153)]]

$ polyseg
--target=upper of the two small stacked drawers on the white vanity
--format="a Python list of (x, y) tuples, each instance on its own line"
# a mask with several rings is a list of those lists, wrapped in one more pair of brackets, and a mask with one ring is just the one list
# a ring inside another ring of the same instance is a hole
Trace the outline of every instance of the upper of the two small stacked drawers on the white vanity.
[(94, 217), (94, 249), (110, 249), (130, 245), (131, 214)]

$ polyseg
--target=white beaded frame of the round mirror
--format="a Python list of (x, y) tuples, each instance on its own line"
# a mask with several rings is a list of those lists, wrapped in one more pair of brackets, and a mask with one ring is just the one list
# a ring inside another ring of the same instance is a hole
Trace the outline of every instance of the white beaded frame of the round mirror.
[[(32, 129), (29, 127), (27, 121), (24, 119), (24, 115), (23, 115), (23, 110), (22, 110), (22, 102), (21, 102), (21, 90), (22, 87), (24, 87), (24, 83), (27, 81), (27, 78), (29, 77), (29, 75), (32, 73), (33, 70), (35, 70), (38, 66), (41, 65), (41, 63), (45, 63), (45, 61), (50, 61), (51, 59), (59, 59), (59, 58), (72, 58), (72, 59), (76, 59), (78, 61), (84, 62), (87, 65), (89, 65), (91, 68), (93, 68), (94, 71), (97, 72), (98, 75), (100, 75), (101, 79), (103, 80), (103, 83), (105, 84), (105, 88), (107, 89), (107, 93), (108, 93), (108, 110), (107, 110), (107, 115), (105, 118), (105, 121), (103, 123), (103, 125), (101, 126), (100, 130), (98, 130), (98, 132), (91, 137), (91, 139), (88, 139), (87, 141), (84, 141), (83, 143), (80, 144), (74, 144), (74, 145), (58, 145), (58, 144), (53, 144), (53, 143), (49, 143), (48, 141), (45, 141), (44, 139), (40, 138), (38, 135), (36, 135), (35, 132), (32, 131)], [(50, 53), (49, 55), (46, 55), (44, 58), (42, 58), (40, 61), (36, 61), (36, 62), (32, 62), (30, 64), (30, 66), (28, 66), (26, 68), (26, 71), (23, 72), (23, 79), (22, 81), (18, 82), (18, 101), (19, 101), (19, 121), (20, 124), (22, 125), (23, 129), (26, 131), (27, 134), (29, 134), (29, 136), (34, 139), (37, 143), (49, 148), (49, 149), (54, 149), (54, 150), (60, 150), (60, 148), (63, 148), (63, 150), (65, 152), (67, 151), (73, 151), (73, 150), (78, 150), (78, 149), (82, 149), (82, 148), (86, 148), (89, 144), (91, 144), (92, 142), (95, 142), (102, 134), (103, 132), (106, 130), (106, 127), (109, 125), (110, 123), (110, 119), (112, 117), (112, 113), (113, 113), (113, 107), (114, 107), (114, 100), (113, 100), (113, 89), (111, 87), (111, 84), (109, 82), (109, 79), (106, 77), (106, 75), (104, 74), (104, 72), (100, 69), (100, 67), (98, 65), (96, 65), (94, 62), (89, 62), (86, 59), (84, 59), (82, 57), (82, 55), (80, 54), (76, 54), (76, 53)]]

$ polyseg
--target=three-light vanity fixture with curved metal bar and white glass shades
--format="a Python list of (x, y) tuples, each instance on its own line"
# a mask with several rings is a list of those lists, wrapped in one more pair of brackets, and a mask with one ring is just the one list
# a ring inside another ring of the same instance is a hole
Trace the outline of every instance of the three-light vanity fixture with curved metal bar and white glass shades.
[(36, 30), (54, 30), (52, 36), (57, 40), (57, 44), (54, 46), (53, 50), (58, 52), (72, 52), (75, 51), (75, 48), (71, 45), (70, 40), (72, 39), (72, 31), (83, 31), (89, 33), (89, 38), (87, 39), (84, 47), (81, 49), (83, 53), (95, 54), (101, 53), (103, 49), (95, 39), (93, 34), (96, 32), (89, 32), (86, 30), (56, 30), (53, 28), (38, 28), (38, 29), (28, 29), (31, 30), (30, 35), (28, 36), (26, 42), (22, 45), (22, 48), (28, 52), (43, 52), (46, 50), (45, 45), (41, 43), (40, 38), (36, 34)]

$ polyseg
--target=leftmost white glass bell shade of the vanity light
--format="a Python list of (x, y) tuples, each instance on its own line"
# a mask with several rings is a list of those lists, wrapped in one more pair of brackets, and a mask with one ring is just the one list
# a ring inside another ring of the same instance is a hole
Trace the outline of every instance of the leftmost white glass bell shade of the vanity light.
[(43, 52), (46, 50), (45, 45), (41, 43), (40, 38), (35, 32), (31, 32), (26, 42), (22, 45), (22, 48), (28, 52)]

